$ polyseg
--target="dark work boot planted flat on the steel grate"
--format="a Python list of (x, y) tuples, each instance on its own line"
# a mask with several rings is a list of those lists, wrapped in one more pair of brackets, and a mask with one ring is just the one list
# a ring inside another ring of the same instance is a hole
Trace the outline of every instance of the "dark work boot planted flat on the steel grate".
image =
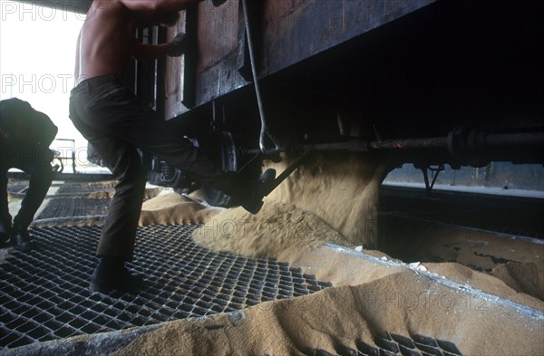
[(140, 289), (142, 283), (143, 277), (140, 274), (131, 274), (121, 259), (100, 256), (89, 288), (92, 292), (110, 293), (116, 290), (134, 293)]

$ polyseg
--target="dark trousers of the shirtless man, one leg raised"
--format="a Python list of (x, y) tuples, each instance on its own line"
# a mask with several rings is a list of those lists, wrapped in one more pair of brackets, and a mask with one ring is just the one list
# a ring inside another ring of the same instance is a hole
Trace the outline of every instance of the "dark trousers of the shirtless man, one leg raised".
[(146, 182), (137, 148), (156, 154), (210, 187), (221, 188), (228, 180), (219, 162), (208, 159), (171, 130), (168, 121), (113, 76), (92, 78), (74, 88), (70, 119), (118, 180), (97, 255), (131, 261)]

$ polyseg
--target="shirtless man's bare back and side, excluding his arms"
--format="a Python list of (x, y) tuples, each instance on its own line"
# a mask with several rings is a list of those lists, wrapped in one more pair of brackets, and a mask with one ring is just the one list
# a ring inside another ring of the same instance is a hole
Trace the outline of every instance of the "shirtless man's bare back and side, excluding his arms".
[(137, 28), (134, 14), (117, 1), (92, 2), (77, 43), (76, 84), (101, 75), (123, 77)]

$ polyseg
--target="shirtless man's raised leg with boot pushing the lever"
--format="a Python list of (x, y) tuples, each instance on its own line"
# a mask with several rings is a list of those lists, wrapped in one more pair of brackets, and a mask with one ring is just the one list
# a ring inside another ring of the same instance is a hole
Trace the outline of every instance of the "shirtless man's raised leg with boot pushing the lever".
[(189, 177), (210, 188), (224, 191), (233, 197), (236, 204), (257, 213), (262, 206), (263, 191), (275, 178), (273, 169), (269, 169), (261, 178), (250, 181), (240, 177), (237, 172), (224, 172), (219, 160), (210, 159), (204, 149), (193, 146), (183, 137), (180, 129), (163, 120), (130, 92), (114, 92), (112, 99), (120, 104), (104, 101), (92, 107), (93, 111), (101, 113), (92, 122), (95, 130), (112, 127), (110, 131), (115, 132), (117, 139), (154, 153)]

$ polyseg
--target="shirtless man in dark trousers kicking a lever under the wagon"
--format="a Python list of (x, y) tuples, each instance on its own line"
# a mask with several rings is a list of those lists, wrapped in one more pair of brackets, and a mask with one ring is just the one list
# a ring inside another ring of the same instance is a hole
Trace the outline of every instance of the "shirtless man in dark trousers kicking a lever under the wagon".
[[(214, 5), (223, 1), (214, 1)], [(183, 34), (170, 43), (141, 44), (134, 38), (137, 28), (173, 24), (180, 10), (197, 3), (199, 0), (94, 0), (83, 24), (70, 118), (119, 181), (102, 227), (92, 291), (135, 291), (142, 282), (141, 276), (132, 275), (124, 266), (132, 259), (146, 183), (137, 148), (153, 152), (209, 187), (219, 188), (254, 214), (262, 206), (265, 187), (275, 177), (276, 172), (268, 170), (261, 178), (244, 182), (238, 173), (222, 171), (219, 162), (209, 159), (179, 132), (169, 130), (167, 121), (121, 82), (131, 57), (179, 56), (187, 46)]]

